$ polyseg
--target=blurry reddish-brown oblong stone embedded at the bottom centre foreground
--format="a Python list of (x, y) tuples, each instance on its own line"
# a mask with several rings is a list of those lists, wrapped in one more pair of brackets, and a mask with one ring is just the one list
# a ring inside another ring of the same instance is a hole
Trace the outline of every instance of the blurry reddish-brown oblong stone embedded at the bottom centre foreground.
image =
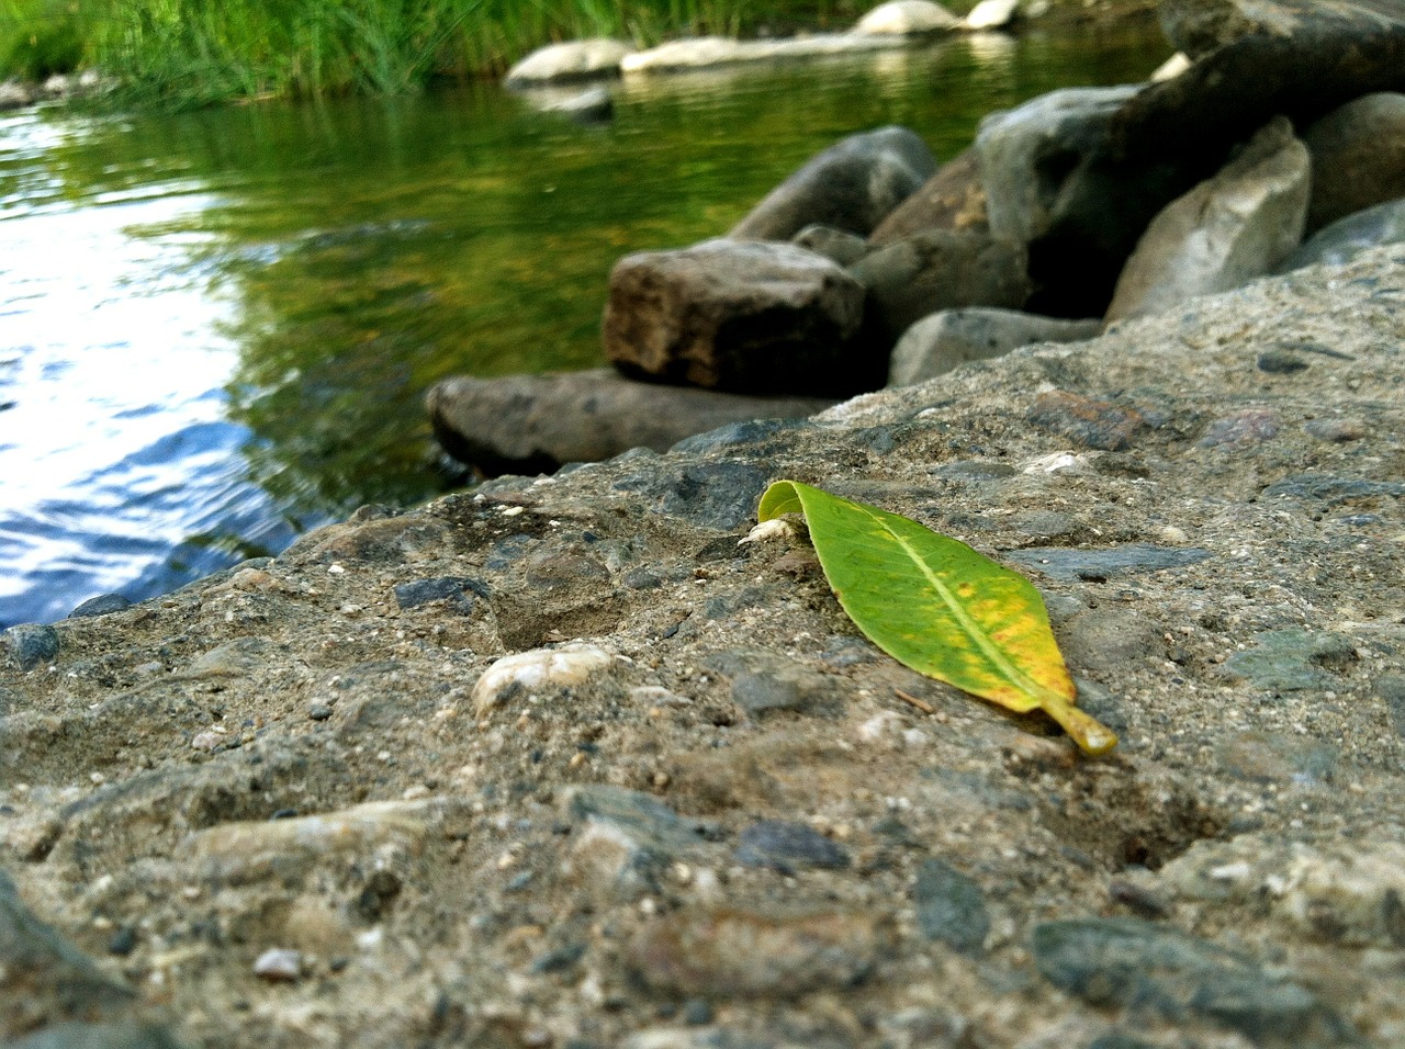
[(868, 914), (680, 911), (645, 925), (629, 968), (651, 990), (707, 998), (794, 998), (861, 982), (891, 942)]

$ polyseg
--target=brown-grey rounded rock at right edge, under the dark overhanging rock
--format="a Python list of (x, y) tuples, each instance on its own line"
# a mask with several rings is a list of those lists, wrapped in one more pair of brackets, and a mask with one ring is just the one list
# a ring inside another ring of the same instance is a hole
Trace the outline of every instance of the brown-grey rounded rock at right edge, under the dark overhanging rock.
[(1312, 154), (1309, 233), (1405, 197), (1405, 94), (1361, 95), (1309, 125), (1302, 145)]

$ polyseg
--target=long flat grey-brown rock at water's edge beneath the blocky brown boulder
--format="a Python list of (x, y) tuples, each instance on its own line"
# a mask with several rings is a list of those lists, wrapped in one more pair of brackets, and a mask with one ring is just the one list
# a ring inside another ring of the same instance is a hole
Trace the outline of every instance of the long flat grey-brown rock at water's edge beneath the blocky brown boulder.
[(663, 452), (729, 423), (812, 416), (833, 400), (659, 386), (593, 368), (496, 379), (458, 375), (431, 388), (424, 403), (434, 435), (455, 459), (488, 475), (530, 475), (631, 448)]

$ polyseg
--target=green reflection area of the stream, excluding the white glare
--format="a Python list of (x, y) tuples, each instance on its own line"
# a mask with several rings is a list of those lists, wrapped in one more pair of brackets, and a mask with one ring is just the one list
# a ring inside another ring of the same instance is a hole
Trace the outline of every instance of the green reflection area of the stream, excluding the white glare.
[(946, 160), (992, 110), (1138, 80), (1166, 52), (1151, 35), (978, 38), (629, 83), (604, 128), (483, 86), (136, 119), (105, 149), (216, 194), (197, 222), (216, 235), (212, 286), (237, 302), (250, 469), (280, 501), (343, 514), (437, 489), (434, 381), (597, 364), (621, 254), (724, 233), (856, 131), (902, 124)]

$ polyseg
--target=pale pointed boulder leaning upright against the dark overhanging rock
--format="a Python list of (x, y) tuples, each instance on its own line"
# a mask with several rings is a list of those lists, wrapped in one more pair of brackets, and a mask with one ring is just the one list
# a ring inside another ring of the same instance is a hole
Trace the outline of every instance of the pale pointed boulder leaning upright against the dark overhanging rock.
[(1107, 319), (1158, 313), (1272, 272), (1302, 239), (1309, 181), (1293, 125), (1270, 121), (1220, 174), (1156, 216), (1127, 260)]

